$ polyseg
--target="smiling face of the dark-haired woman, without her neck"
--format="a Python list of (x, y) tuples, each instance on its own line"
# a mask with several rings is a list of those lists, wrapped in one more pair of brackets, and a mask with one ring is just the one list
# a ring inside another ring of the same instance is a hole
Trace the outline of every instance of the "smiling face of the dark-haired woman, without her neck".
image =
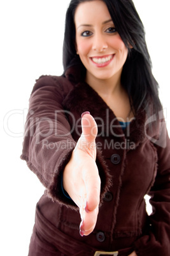
[(80, 3), (74, 15), (76, 51), (87, 69), (88, 81), (121, 76), (128, 50), (115, 29), (106, 4)]

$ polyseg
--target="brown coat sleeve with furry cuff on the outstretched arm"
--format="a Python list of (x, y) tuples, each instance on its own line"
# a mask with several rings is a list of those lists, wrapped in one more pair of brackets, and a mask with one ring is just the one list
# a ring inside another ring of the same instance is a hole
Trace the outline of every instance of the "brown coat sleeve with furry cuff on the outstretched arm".
[[(71, 83), (60, 83), (62, 77), (41, 76), (29, 101), (21, 159), (38, 176), (53, 201), (70, 204), (62, 193), (62, 171), (76, 145), (62, 101), (71, 90)], [(67, 113), (68, 114), (68, 113)]]

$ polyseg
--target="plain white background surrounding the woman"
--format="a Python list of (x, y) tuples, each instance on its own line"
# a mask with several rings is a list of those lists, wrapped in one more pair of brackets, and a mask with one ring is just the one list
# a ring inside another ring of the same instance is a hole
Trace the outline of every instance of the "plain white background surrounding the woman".
[[(69, 0), (15, 0), (0, 4), (1, 245), (3, 256), (25, 256), (34, 211), (44, 187), (20, 160), (25, 115), (34, 81), (62, 74), (62, 39)], [(135, 0), (146, 30), (153, 74), (170, 131), (169, 0)], [(3, 92), (2, 92), (3, 90)], [(4, 127), (3, 127), (4, 124)]]

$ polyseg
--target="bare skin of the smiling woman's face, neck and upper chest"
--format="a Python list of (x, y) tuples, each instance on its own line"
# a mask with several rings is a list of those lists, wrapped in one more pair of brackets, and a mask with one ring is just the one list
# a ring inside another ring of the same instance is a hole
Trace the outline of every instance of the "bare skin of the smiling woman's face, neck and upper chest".
[(76, 53), (86, 69), (86, 82), (104, 99), (118, 119), (132, 118), (129, 96), (121, 85), (128, 49), (115, 29), (106, 4), (103, 1), (79, 4), (74, 22)]

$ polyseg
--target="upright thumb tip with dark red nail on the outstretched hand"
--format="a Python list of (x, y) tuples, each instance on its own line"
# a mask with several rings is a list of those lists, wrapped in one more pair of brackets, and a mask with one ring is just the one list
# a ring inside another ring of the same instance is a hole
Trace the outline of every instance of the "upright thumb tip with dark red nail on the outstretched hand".
[(95, 142), (97, 136), (97, 124), (88, 111), (81, 115), (81, 128), (83, 138), (89, 143)]

